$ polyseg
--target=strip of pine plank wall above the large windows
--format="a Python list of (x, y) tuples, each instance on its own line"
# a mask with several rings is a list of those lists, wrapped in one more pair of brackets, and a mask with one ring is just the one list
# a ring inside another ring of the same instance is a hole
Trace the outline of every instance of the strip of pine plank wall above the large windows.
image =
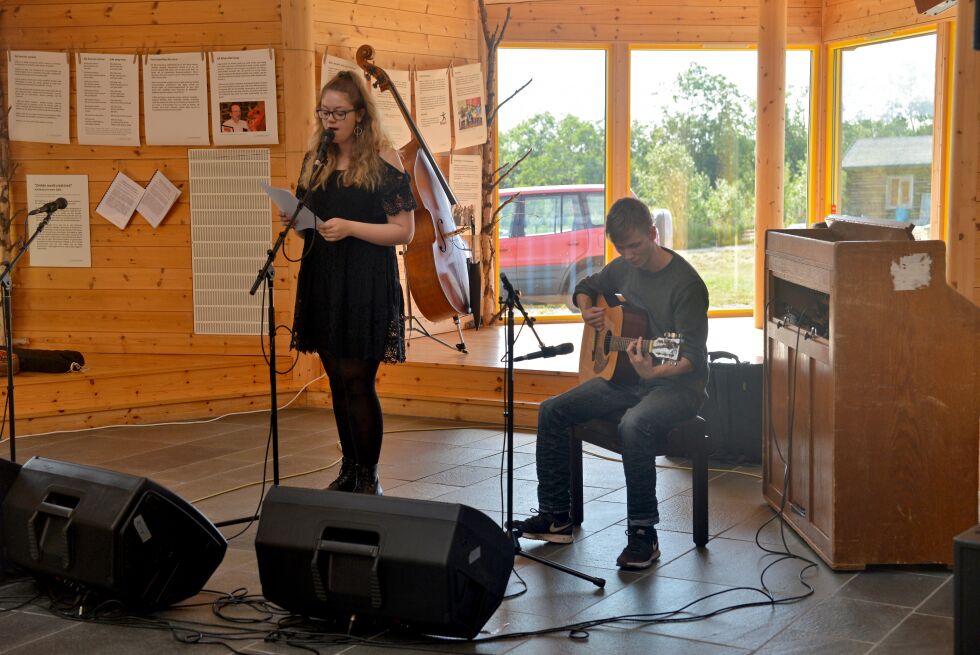
[[(820, 42), (823, 0), (789, 0), (787, 41)], [(755, 43), (759, 3), (748, 0), (608, 0), (501, 2), (491, 23), (511, 11), (508, 42)]]

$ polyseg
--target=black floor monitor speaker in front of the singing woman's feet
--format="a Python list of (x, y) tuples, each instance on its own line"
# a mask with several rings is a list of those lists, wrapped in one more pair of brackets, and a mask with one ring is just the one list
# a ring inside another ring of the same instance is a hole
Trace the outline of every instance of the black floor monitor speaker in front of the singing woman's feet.
[(255, 553), (262, 594), (291, 612), (467, 639), (514, 566), (511, 540), (472, 507), (295, 487), (269, 490)]

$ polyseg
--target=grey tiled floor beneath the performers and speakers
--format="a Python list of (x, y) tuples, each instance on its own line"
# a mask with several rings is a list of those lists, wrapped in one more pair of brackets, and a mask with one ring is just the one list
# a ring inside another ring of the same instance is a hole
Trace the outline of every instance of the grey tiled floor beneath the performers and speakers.
[[(464, 503), (501, 517), (502, 430), (408, 417), (387, 417), (382, 452), (382, 482), (388, 496)], [(19, 438), (18, 460), (32, 455), (92, 464), (150, 477), (192, 501), (212, 521), (249, 515), (259, 500), (259, 480), (268, 432), (268, 414), (232, 416), (220, 421), (158, 427), (121, 427), (63, 435)], [(325, 410), (291, 409), (280, 413), (282, 483), (320, 488), (335, 469), (315, 469), (339, 457), (333, 417)], [(526, 515), (535, 501), (534, 438), (515, 438), (515, 514)], [(6, 443), (0, 444), (6, 454)], [(662, 460), (665, 465), (682, 461)], [(685, 470), (662, 468), (658, 473), (663, 555), (643, 573), (623, 573), (614, 561), (625, 544), (625, 489), (616, 462), (588, 458), (585, 465), (586, 520), (576, 543), (554, 546), (524, 542), (537, 555), (601, 576), (604, 589), (550, 567), (518, 557), (516, 566), (527, 593), (504, 600), (484, 626), (486, 635), (540, 630), (553, 626), (620, 615), (653, 614), (687, 608), (680, 617), (715, 612), (727, 606), (765, 601), (758, 589), (763, 569), (778, 556), (755, 544), (757, 528), (771, 517), (761, 496), (758, 468), (717, 472), (710, 482), (711, 540), (705, 550), (694, 548), (690, 533), (690, 482)], [(295, 477), (294, 477), (295, 476)], [(226, 490), (232, 490), (221, 493)], [(227, 536), (237, 527), (224, 529)], [(259, 594), (253, 539), (255, 527), (233, 539), (225, 560), (208, 589), (231, 592), (246, 587)], [(718, 613), (697, 621), (671, 623), (616, 622), (588, 629), (586, 639), (568, 632), (451, 645), (412, 644), (399, 652), (525, 653), (951, 653), (953, 581), (938, 568), (883, 568), (862, 573), (834, 573), (790, 530), (792, 552), (818, 564), (803, 574), (811, 597), (796, 603), (755, 605)], [(781, 548), (779, 530), (771, 524), (762, 543)], [(805, 591), (800, 560), (779, 561), (766, 571), (773, 596), (786, 598)], [(0, 584), (0, 607), (13, 607), (34, 590), (28, 581)], [(509, 593), (520, 590), (511, 576)], [(729, 590), (696, 605), (709, 594)], [(190, 602), (208, 603), (201, 594)], [(244, 608), (235, 610), (249, 614)], [(171, 609), (163, 616), (182, 621), (221, 623), (209, 607)], [(238, 624), (240, 626), (241, 624)], [(224, 629), (237, 629), (230, 623)], [(142, 624), (141, 627), (148, 627)], [(206, 628), (200, 628), (202, 631)], [(208, 630), (214, 630), (209, 628)], [(183, 633), (187, 634), (187, 633)], [(230, 634), (230, 633), (229, 633)], [(0, 653), (171, 653), (229, 652), (220, 645), (191, 647), (177, 643), (168, 631), (119, 624), (94, 624), (52, 616), (35, 605), (0, 613)], [(385, 638), (381, 635), (379, 638)], [(581, 635), (580, 635), (581, 636)], [(303, 652), (282, 643), (246, 636), (229, 643), (236, 652)], [(389, 652), (357, 644), (316, 645), (321, 653)]]

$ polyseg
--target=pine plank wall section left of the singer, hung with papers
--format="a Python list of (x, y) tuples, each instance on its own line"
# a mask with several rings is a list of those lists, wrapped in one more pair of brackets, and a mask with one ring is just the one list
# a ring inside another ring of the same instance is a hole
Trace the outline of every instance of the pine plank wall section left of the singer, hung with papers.
[[(236, 0), (233, 11), (220, 0), (7, 0), (0, 11), (2, 41), (14, 50), (203, 52), (277, 47), (282, 40), (280, 4), (268, 0)], [(72, 59), (71, 144), (12, 143), (18, 164), (13, 201), (24, 207), (29, 174), (87, 175), (92, 267), (33, 267), (22, 261), (14, 278), (15, 336), (29, 338), (32, 347), (83, 352), (258, 353), (258, 337), (194, 334), (188, 148), (78, 145)], [(6, 58), (3, 75), (6, 84)], [(281, 138), (284, 129), (280, 116)], [(281, 185), (281, 146), (270, 149), (273, 183)], [(156, 169), (182, 191), (160, 227), (134, 216), (119, 230), (95, 213), (117, 171), (146, 184)], [(279, 277), (277, 308), (285, 321), (291, 290), (285, 275)]]

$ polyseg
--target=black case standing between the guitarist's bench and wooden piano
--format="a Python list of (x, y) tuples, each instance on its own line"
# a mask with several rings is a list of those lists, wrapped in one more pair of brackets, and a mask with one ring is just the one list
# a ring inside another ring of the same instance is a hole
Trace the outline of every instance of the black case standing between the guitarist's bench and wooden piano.
[(701, 416), (714, 444), (711, 459), (758, 464), (762, 461), (762, 364), (743, 362), (724, 351), (710, 352), (708, 359), (708, 399)]

